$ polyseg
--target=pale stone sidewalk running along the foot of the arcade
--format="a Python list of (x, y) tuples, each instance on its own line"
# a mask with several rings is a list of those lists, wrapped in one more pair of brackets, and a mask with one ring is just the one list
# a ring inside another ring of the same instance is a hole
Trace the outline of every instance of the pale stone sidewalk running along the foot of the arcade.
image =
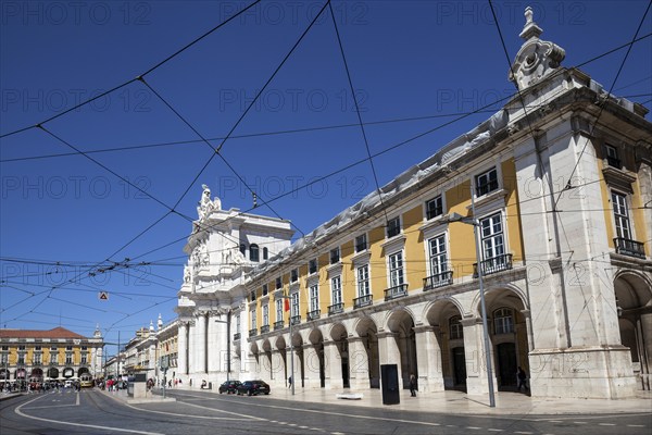
[[(176, 388), (184, 393), (214, 394), (216, 390), (199, 388)], [(362, 394), (360, 400), (348, 400), (337, 398), (337, 395)], [(496, 408), (489, 407), (489, 396), (468, 396), (462, 391), (442, 391), (417, 394), (410, 397), (410, 391), (401, 391), (401, 402), (398, 405), (383, 405), (383, 393), (380, 389), (368, 389), (364, 391), (340, 391), (325, 389), (297, 388), (292, 396), (289, 388), (273, 389), (268, 396), (296, 402), (317, 402), (342, 405), (347, 407), (373, 407), (387, 410), (401, 411), (426, 411), (450, 414), (609, 414), (609, 413), (638, 413), (652, 412), (652, 391), (639, 391), (639, 396), (632, 399), (601, 400), (601, 399), (538, 399), (521, 393), (500, 391), (496, 394)], [(264, 396), (263, 396), (264, 397)], [(255, 400), (255, 398), (252, 398)]]

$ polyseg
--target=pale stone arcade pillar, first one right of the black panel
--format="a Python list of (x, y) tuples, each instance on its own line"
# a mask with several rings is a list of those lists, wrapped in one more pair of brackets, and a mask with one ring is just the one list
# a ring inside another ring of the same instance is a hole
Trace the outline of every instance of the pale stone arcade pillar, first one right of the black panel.
[(439, 326), (417, 326), (414, 334), (419, 391), (443, 391)]

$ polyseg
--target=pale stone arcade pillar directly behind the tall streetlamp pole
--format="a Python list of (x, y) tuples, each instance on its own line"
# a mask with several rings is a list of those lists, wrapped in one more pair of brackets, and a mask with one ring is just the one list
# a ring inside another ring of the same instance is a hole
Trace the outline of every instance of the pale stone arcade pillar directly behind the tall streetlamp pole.
[[(489, 394), (489, 384), (487, 378), (487, 363), (485, 359), (485, 336), (482, 331), (482, 320), (480, 318), (462, 319), (464, 326), (464, 358), (466, 360), (466, 393), (469, 395)], [(491, 343), (489, 344), (491, 346)], [(497, 389), (496, 382), (496, 362), (492, 359), (492, 378), (493, 388)]]

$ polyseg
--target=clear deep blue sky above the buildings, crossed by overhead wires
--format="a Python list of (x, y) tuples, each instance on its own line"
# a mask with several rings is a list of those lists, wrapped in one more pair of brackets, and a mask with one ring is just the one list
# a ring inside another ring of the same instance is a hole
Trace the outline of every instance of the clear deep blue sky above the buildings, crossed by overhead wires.
[(652, 107), (648, 0), (333, 0), (294, 50), (324, 0), (269, 0), (176, 55), (251, 1), (0, 4), (1, 327), (173, 320), (202, 184), (297, 237), (374, 190), (331, 10), (380, 185), (513, 95), (527, 5), (564, 66)]

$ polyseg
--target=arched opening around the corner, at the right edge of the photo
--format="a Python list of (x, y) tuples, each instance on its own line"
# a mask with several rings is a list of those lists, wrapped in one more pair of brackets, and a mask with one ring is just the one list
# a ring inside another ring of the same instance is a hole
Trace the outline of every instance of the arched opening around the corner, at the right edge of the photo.
[(636, 272), (624, 271), (614, 281), (620, 343), (630, 350), (631, 370), (640, 389), (650, 389), (652, 361), (652, 284)]

